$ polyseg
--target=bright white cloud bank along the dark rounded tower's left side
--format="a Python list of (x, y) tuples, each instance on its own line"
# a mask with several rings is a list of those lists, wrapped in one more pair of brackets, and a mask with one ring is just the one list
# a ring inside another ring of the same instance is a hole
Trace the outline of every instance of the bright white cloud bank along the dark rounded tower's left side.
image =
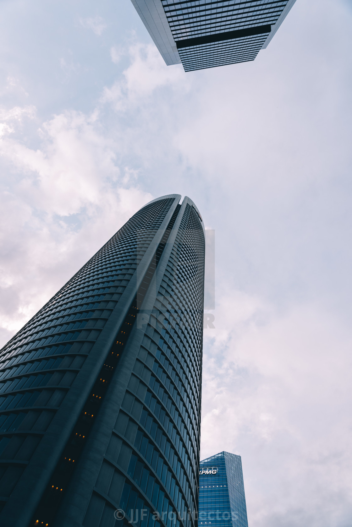
[[(34, 113), (3, 112), (4, 130), (12, 123), (15, 132), (14, 121)], [(113, 141), (101, 133), (97, 112), (56, 115), (40, 132), (36, 150), (16, 136), (0, 142), (3, 168), (14, 174), (0, 207), (6, 255), (0, 309), (7, 331), (20, 328), (151, 199), (134, 182), (133, 170), (123, 168), (120, 177)]]

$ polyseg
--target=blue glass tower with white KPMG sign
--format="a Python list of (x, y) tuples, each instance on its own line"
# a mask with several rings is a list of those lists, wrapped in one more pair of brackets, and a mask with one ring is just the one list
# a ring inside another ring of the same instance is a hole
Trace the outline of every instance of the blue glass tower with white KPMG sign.
[(248, 527), (241, 456), (220, 452), (199, 466), (199, 527)]

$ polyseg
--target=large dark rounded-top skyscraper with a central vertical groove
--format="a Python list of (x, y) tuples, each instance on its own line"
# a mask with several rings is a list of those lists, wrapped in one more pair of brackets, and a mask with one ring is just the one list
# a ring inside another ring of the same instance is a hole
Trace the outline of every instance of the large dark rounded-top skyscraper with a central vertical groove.
[(1, 350), (2, 527), (194, 527), (205, 243), (179, 201), (141, 208)]

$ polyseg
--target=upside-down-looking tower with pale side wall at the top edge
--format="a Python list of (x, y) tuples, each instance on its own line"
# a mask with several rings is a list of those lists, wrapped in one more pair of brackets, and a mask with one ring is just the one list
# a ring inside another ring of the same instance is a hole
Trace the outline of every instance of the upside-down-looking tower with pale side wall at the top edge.
[(296, 0), (131, 0), (169, 66), (185, 71), (253, 61)]

